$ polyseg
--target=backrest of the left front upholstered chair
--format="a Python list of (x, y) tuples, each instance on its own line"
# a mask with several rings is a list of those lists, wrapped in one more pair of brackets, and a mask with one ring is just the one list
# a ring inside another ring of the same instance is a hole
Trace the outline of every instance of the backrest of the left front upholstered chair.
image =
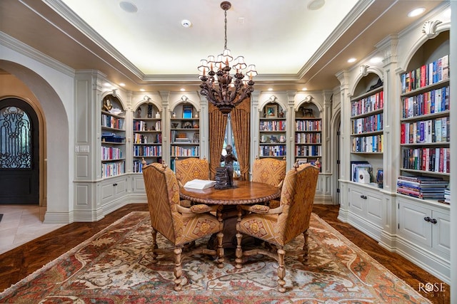
[(142, 171), (151, 226), (174, 243), (176, 227), (181, 221), (181, 214), (176, 211), (179, 186), (175, 174), (165, 164), (159, 163), (145, 165)]

